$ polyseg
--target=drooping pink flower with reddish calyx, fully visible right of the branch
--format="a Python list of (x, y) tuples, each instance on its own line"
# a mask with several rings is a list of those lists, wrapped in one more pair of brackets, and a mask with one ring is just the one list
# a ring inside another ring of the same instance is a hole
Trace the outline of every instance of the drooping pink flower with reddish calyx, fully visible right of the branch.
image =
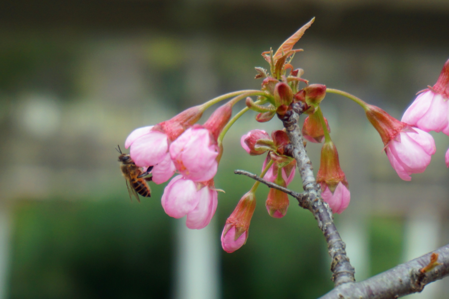
[(379, 107), (366, 105), (365, 113), (379, 132), (391, 165), (403, 180), (411, 180), (412, 173), (421, 173), (436, 151), (435, 141), (418, 128), (398, 121)]

